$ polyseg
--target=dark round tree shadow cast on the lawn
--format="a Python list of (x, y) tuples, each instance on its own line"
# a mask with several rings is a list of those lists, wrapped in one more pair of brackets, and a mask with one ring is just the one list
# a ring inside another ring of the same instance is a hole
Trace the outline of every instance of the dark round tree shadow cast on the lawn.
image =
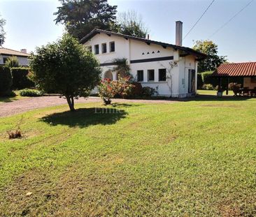
[(118, 110), (113, 107), (91, 107), (80, 108), (75, 112), (58, 112), (48, 114), (42, 117), (40, 121), (48, 123), (52, 126), (66, 125), (70, 127), (84, 128), (90, 125), (108, 125), (115, 124), (120, 119), (127, 116), (125, 110)]

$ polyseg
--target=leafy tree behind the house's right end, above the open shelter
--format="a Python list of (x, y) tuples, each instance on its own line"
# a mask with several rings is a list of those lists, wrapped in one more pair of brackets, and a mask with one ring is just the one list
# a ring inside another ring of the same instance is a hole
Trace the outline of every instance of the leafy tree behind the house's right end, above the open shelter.
[(193, 49), (208, 55), (206, 59), (199, 61), (199, 73), (215, 70), (221, 63), (227, 61), (226, 56), (218, 56), (218, 45), (211, 40), (197, 40)]

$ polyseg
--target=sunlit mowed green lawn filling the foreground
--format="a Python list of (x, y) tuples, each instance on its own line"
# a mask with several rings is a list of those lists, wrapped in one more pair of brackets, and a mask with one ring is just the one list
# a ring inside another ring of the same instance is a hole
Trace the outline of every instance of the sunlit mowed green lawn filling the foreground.
[(255, 99), (95, 106), (0, 118), (0, 216), (256, 215)]

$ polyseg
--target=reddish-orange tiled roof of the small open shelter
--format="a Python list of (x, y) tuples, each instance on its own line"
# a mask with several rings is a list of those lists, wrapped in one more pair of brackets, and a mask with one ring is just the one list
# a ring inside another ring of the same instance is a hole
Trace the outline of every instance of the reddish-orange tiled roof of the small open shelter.
[(212, 74), (215, 77), (256, 76), (256, 62), (223, 63)]

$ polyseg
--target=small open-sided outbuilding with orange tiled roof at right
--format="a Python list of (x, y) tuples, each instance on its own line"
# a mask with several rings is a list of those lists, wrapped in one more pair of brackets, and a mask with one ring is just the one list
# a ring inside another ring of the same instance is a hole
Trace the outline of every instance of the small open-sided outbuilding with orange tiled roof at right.
[[(212, 76), (218, 77), (219, 87), (222, 87), (223, 82), (228, 85), (230, 78), (240, 77), (243, 79), (241, 93), (254, 93), (256, 91), (256, 62), (222, 63)], [(228, 87), (222, 88), (228, 91)]]

